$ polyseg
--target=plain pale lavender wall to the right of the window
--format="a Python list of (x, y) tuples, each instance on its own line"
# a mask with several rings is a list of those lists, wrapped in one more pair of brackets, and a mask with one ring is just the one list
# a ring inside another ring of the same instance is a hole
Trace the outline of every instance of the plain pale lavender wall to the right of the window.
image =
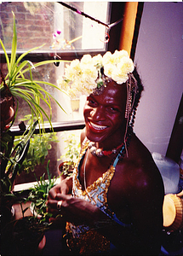
[(134, 132), (165, 155), (183, 91), (183, 4), (144, 3), (134, 62), (145, 86)]

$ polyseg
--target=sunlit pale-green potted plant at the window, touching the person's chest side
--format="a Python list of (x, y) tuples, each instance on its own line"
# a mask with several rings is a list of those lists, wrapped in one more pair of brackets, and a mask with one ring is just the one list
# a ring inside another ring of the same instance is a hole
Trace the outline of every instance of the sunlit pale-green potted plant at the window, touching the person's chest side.
[(59, 159), (64, 160), (60, 172), (61, 175), (71, 176), (79, 157), (80, 143), (77, 143), (77, 139), (74, 134), (67, 136), (67, 133), (65, 132), (65, 135), (66, 139), (64, 142), (66, 143), (66, 148), (64, 149), (66, 150), (66, 153), (62, 154)]

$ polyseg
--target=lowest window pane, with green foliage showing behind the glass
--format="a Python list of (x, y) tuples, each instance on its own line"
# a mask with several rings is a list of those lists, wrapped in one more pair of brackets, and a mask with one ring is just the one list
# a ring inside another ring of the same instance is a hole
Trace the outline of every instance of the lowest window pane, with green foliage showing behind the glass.
[[(61, 162), (71, 160), (72, 156), (74, 162), (77, 162), (76, 155), (72, 153), (73, 149), (79, 153), (80, 134), (81, 130), (77, 130), (57, 132), (55, 134), (56, 137), (50, 133), (45, 134), (43, 137), (40, 137), (38, 134), (31, 137), (26, 160), (23, 162), (20, 175), (15, 179), (15, 184), (36, 182), (36, 177), (39, 180), (43, 173), (45, 174), (44, 178), (47, 179), (49, 160), (51, 176), (58, 177), (60, 175), (58, 171)], [(15, 141), (18, 139), (18, 137), (15, 137)], [(65, 157), (65, 154), (68, 154), (68, 152), (70, 156)], [(36, 165), (36, 162), (38, 162), (38, 165)]]

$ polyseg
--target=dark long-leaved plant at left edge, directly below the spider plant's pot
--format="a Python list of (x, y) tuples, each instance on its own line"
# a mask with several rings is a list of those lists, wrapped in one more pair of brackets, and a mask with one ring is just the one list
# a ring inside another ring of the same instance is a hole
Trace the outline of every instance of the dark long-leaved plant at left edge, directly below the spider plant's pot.
[(0, 220), (1, 226), (5, 226), (12, 218), (12, 206), (16, 201), (16, 196), (12, 192), (14, 179), (20, 171), (20, 166), (25, 160), (26, 153), (30, 144), (30, 137), (37, 126), (37, 121), (25, 137), (16, 145), (14, 145), (14, 137), (10, 137), (5, 152), (0, 152), (1, 157), (1, 179), (0, 179)]

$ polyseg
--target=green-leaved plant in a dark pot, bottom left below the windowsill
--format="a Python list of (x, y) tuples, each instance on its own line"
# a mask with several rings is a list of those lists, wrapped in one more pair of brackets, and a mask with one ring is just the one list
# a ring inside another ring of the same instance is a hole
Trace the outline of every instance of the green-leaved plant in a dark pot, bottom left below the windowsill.
[[(52, 223), (49, 223), (52, 214), (46, 211), (46, 201), (49, 189), (54, 187), (56, 178), (52, 178), (49, 173), (49, 161), (47, 164), (48, 180), (44, 178), (45, 173), (40, 177), (40, 180), (37, 180), (36, 177), (37, 184), (29, 189), (26, 199), (21, 198), (20, 200), (22, 218), (14, 220), (6, 226), (6, 229), (9, 228), (9, 234), (11, 234), (10, 242), (16, 248), (16, 253), (20, 255), (34, 255), (42, 249), (46, 242), (44, 233), (52, 227)], [(22, 205), (26, 202), (31, 203), (31, 216), (25, 216), (28, 207), (24, 210)], [(9, 241), (9, 237), (7, 239)], [(6, 241), (4, 243), (6, 244)], [(7, 247), (5, 252), (9, 252)]]

